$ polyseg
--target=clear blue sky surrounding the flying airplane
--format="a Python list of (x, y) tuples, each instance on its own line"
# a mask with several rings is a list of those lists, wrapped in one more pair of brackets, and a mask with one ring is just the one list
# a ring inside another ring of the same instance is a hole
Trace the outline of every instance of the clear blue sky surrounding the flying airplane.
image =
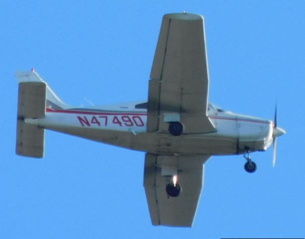
[[(52, 131), (44, 159), (15, 155), (16, 70), (70, 105), (146, 100), (162, 15), (205, 16), (210, 100), (273, 119), (287, 134), (251, 156), (212, 157), (193, 228), (151, 225), (144, 153)], [(0, 238), (305, 237), (305, 1), (1, 1), (4, 111)]]

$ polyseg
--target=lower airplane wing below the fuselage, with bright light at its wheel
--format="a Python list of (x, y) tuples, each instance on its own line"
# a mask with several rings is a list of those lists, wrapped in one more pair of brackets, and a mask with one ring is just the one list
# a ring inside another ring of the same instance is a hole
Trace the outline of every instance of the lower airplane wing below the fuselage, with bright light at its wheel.
[[(209, 157), (146, 154), (144, 187), (153, 225), (192, 226), (203, 185), (204, 162)], [(182, 188), (178, 197), (169, 197), (165, 189), (171, 179), (166, 171), (173, 168), (177, 169)]]

